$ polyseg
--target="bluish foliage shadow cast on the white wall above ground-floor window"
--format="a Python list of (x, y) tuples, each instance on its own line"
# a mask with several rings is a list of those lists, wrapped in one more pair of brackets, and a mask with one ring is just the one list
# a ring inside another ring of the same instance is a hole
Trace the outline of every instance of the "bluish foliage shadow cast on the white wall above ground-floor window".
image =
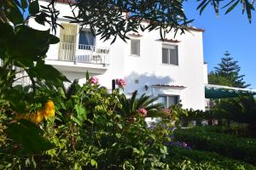
[[(132, 72), (125, 77), (127, 86), (125, 87), (125, 94), (131, 94), (135, 90), (138, 90), (139, 94), (150, 94), (150, 86), (154, 84), (171, 84), (174, 80), (170, 77), (158, 77), (153, 74), (137, 74)], [(145, 85), (148, 86), (148, 90), (145, 89)]]

